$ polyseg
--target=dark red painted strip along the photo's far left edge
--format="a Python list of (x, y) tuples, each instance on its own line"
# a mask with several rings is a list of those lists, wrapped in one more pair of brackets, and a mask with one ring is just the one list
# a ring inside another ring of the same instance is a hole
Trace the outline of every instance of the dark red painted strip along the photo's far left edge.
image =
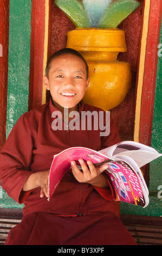
[(8, 85), (8, 41), (9, 0), (1, 0), (0, 8), (0, 149), (5, 142), (7, 85)]

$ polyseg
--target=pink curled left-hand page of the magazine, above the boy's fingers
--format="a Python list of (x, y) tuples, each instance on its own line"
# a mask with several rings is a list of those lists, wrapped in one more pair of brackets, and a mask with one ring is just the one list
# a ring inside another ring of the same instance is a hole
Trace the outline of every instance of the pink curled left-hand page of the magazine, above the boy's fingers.
[(85, 161), (91, 160), (96, 165), (106, 161), (111, 161), (109, 160), (109, 157), (88, 148), (74, 147), (63, 150), (60, 154), (54, 156), (53, 163), (51, 164), (48, 200), (50, 200), (64, 174), (70, 169), (71, 161), (77, 161), (80, 158)]

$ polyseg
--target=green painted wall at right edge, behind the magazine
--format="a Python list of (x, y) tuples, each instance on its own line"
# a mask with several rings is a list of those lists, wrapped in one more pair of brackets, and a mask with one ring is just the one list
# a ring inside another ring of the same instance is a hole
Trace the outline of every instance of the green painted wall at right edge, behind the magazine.
[[(159, 153), (162, 153), (162, 20), (158, 46), (157, 81), (154, 97), (151, 147), (158, 150)], [(121, 214), (162, 217), (162, 157), (150, 163), (148, 190), (150, 203), (146, 208), (143, 209), (134, 205), (121, 203)]]

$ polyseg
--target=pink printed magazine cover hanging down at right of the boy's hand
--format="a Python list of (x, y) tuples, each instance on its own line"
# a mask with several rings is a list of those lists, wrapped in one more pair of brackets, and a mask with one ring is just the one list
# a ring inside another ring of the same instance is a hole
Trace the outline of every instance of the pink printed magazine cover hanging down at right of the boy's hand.
[(114, 187), (114, 200), (145, 208), (149, 199), (133, 168), (122, 160), (112, 161), (108, 166), (106, 172)]

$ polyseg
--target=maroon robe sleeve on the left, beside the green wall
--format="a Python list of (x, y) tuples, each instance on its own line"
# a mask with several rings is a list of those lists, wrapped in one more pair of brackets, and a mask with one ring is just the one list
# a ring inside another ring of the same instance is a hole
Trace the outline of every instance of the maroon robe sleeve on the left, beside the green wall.
[(31, 191), (22, 192), (31, 174), (30, 164), (33, 137), (26, 115), (17, 121), (0, 152), (0, 179), (2, 188), (17, 203), (23, 203)]

